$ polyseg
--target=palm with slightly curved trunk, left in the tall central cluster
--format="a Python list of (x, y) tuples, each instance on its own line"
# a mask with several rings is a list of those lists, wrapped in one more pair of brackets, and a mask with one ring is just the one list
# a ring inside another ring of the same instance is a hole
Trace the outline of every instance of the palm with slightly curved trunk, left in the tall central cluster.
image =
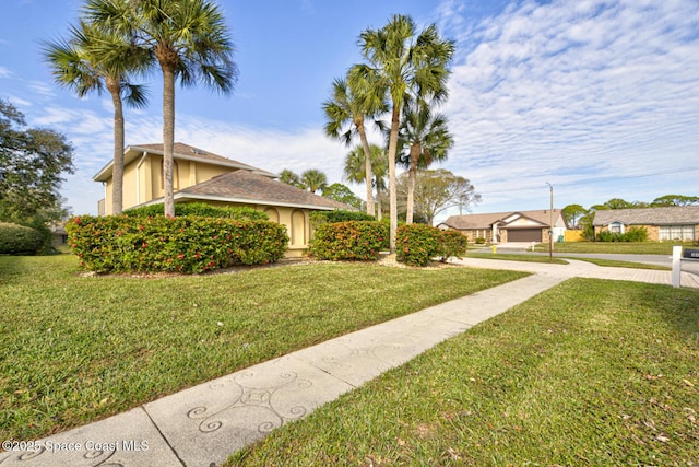
[[(354, 68), (353, 68), (354, 70)], [(353, 73), (351, 70), (350, 73)], [(364, 121), (366, 118), (375, 118), (386, 112), (388, 105), (383, 92), (377, 86), (369, 86), (362, 80), (366, 79), (362, 74), (354, 77), (353, 86), (347, 84), (347, 80), (337, 79), (332, 84), (332, 97), (323, 103), (325, 113), (325, 135), (331, 138), (341, 139), (350, 145), (355, 135), (359, 136), (362, 149), (364, 150), (364, 180), (367, 188), (367, 214), (374, 215), (374, 189), (371, 188), (371, 155), (369, 142), (367, 140)], [(363, 92), (368, 91), (368, 92)], [(350, 127), (343, 131), (343, 127)]]

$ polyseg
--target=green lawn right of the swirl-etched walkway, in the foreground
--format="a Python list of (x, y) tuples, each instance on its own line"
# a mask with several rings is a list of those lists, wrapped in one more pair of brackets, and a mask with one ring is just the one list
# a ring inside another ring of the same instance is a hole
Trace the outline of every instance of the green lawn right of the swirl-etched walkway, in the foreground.
[(573, 279), (233, 456), (242, 466), (696, 466), (699, 293)]

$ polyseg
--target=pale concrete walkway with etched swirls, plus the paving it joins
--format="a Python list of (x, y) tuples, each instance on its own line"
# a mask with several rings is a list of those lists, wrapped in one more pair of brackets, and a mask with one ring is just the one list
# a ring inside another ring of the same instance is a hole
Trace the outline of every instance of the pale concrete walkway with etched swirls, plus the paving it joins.
[[(454, 262), (534, 275), (39, 440), (29, 446), (37, 451), (1, 453), (0, 467), (217, 465), (273, 429), (566, 279), (671, 281), (668, 271), (601, 268), (584, 261), (564, 266), (467, 258)], [(683, 276), (683, 284), (699, 288), (692, 276)]]

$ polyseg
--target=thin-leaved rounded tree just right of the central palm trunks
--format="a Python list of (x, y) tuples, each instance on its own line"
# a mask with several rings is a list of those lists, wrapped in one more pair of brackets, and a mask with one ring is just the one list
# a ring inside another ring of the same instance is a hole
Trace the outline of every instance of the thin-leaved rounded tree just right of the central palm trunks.
[[(399, 177), (401, 200), (407, 201), (408, 175)], [(465, 206), (481, 201), (481, 195), (469, 179), (438, 168), (436, 171), (417, 171), (415, 180), (415, 218), (423, 218), (431, 225), (435, 217), (455, 206)]]

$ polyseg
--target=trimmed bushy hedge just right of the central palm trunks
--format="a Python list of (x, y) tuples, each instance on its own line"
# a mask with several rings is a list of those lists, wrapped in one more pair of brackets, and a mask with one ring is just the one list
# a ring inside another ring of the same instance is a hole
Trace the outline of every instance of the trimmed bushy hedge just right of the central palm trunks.
[(446, 261), (450, 256), (466, 253), (467, 238), (457, 231), (441, 231), (426, 224), (399, 225), (395, 232), (395, 259), (412, 266), (427, 266), (439, 257)]

